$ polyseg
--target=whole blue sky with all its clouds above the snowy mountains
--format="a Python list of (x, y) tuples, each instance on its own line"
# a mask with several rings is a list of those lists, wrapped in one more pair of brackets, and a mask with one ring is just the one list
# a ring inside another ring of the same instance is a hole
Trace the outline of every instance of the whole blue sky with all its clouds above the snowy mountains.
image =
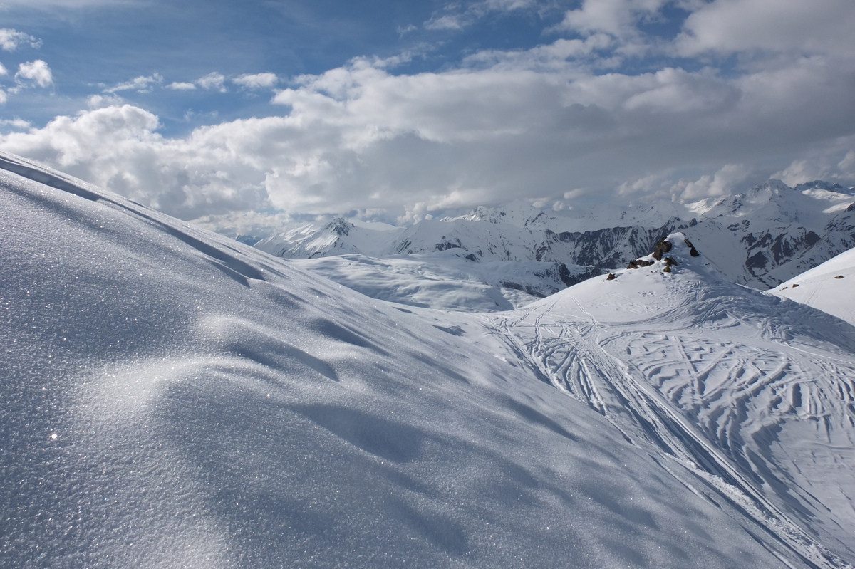
[(851, 0), (4, 0), (0, 149), (223, 232), (855, 184)]

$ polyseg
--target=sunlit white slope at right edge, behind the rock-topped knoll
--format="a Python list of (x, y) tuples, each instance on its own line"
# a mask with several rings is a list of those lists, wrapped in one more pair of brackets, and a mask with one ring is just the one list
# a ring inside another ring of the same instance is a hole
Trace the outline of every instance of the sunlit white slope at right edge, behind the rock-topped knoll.
[(855, 325), (855, 249), (789, 279), (769, 294), (807, 304)]

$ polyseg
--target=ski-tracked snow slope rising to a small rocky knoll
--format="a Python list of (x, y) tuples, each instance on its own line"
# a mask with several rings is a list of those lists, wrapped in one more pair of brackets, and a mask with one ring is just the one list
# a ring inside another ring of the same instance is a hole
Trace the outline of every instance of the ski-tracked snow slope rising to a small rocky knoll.
[(766, 531), (807, 548), (818, 537), (852, 562), (855, 328), (728, 283), (681, 233), (667, 241), (659, 260), (494, 326), (558, 389), (695, 465)]

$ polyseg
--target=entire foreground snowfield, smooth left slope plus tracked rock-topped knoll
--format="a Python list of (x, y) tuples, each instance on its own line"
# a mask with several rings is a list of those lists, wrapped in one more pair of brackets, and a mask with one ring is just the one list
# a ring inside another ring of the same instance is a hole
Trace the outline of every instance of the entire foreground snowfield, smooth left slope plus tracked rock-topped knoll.
[(855, 562), (855, 328), (679, 235), (469, 314), (0, 168), (3, 566)]

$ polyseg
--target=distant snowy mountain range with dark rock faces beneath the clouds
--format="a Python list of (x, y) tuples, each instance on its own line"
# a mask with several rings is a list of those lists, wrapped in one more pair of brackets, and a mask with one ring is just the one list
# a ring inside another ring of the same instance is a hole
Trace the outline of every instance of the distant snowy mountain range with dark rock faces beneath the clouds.
[[(470, 299), (467, 305), (498, 310), (622, 267), (675, 231), (691, 232), (728, 280), (764, 290), (855, 247), (855, 191), (823, 181), (791, 188), (769, 180), (745, 193), (685, 206), (661, 201), (633, 208), (599, 204), (579, 211), (547, 211), (512, 202), (392, 231), (338, 219), (275, 235), (257, 247), (292, 259), (363, 255), (305, 266), (349, 286), (365, 282), (365, 267), (386, 266), (383, 272), (373, 271), (374, 285), (357, 290), (415, 306), (454, 308), (453, 302), (446, 302), (453, 301), (453, 295), (431, 302), (422, 283), (402, 277), (412, 274), (415, 262), (431, 267), (426, 274), (432, 282), (441, 282), (443, 290), (457, 288), (461, 297)], [(508, 263), (500, 276), (495, 261)], [(349, 274), (350, 267), (357, 273)], [(538, 275), (551, 276), (541, 280)], [(416, 291), (419, 299), (406, 290)]]

